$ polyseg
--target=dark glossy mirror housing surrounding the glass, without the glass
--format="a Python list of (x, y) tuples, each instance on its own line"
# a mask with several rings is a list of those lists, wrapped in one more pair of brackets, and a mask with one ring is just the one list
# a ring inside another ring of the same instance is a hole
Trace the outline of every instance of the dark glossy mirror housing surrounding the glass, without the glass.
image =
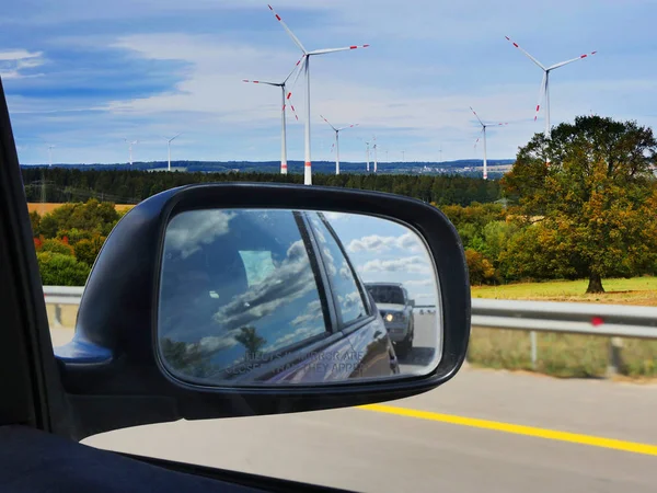
[[(441, 285), (438, 366), (400, 379), (285, 387), (204, 387), (172, 378), (159, 357), (157, 314), (170, 219), (204, 208), (280, 208), (379, 216), (426, 242)], [(103, 245), (82, 296), (76, 335), (56, 347), (78, 439), (180, 419), (278, 414), (369, 404), (434, 389), (461, 367), (470, 335), (470, 284), (456, 228), (436, 207), (392, 194), (320, 186), (222, 183), (172, 188), (132, 208)], [(108, 403), (111, 402), (111, 405)]]

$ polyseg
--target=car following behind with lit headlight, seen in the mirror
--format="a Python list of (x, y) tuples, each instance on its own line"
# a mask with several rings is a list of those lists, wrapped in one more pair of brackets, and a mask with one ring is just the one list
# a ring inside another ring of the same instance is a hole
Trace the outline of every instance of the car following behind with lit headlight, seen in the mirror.
[(368, 283), (366, 286), (383, 317), (396, 353), (406, 356), (415, 336), (414, 301), (408, 299), (408, 291), (399, 283)]

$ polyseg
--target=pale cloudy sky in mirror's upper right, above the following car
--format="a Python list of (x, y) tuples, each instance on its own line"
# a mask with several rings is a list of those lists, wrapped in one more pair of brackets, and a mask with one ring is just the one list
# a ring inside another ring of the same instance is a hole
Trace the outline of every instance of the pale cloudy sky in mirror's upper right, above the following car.
[(430, 257), (417, 234), (396, 222), (353, 214), (325, 214), (366, 283), (401, 283), (417, 305), (435, 305)]

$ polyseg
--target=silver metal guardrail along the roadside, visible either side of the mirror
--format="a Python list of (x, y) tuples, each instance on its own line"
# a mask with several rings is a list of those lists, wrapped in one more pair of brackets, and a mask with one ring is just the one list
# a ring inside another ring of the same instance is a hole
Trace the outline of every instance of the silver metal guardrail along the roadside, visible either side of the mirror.
[[(80, 305), (83, 287), (44, 286), (47, 305), (55, 305), (55, 324), (61, 325), (61, 305)], [(415, 309), (436, 309), (418, 305)], [(538, 359), (537, 332), (610, 337), (610, 371), (619, 367), (620, 337), (657, 340), (657, 307), (474, 298), (472, 326), (529, 331), (531, 360)]]

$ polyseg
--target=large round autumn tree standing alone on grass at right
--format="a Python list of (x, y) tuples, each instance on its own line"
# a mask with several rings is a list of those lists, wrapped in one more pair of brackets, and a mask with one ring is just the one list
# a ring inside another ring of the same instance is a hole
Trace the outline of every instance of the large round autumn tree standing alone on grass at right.
[(656, 151), (650, 128), (599, 116), (561, 124), (551, 139), (537, 134), (502, 181), (511, 214), (541, 222), (534, 232), (550, 240), (534, 253), (587, 277), (587, 293), (654, 263)]

